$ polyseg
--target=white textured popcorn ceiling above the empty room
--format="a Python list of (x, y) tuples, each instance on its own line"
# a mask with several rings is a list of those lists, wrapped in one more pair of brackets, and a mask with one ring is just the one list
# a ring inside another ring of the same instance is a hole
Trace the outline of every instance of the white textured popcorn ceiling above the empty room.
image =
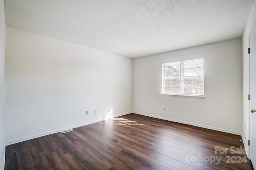
[(6, 26), (136, 58), (241, 37), (253, 2), (5, 0), (5, 15)]

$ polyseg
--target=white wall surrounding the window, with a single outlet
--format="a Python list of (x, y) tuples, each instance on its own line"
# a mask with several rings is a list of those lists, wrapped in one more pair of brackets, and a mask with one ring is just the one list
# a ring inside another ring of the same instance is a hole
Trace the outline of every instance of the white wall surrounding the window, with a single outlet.
[[(199, 57), (204, 58), (205, 98), (160, 94), (163, 62)], [(134, 112), (241, 134), (241, 38), (135, 58), (132, 66)]]

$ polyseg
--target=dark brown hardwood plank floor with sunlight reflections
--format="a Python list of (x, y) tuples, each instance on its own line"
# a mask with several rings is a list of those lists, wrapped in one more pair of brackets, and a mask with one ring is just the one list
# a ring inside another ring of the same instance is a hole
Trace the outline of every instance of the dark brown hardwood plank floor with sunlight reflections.
[(128, 114), (6, 146), (5, 170), (252, 170), (239, 140)]

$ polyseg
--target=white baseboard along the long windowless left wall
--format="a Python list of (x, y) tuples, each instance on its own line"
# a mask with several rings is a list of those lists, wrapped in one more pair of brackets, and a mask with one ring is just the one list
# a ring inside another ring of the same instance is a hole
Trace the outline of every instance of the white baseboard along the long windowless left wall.
[[(116, 114), (113, 118), (118, 117), (118, 116), (123, 116), (123, 115), (126, 115), (126, 114), (130, 114), (130, 113), (132, 113), (132, 112), (125, 112), (125, 113)], [(63, 130), (66, 130), (66, 129), (78, 128), (78, 127), (81, 127), (81, 126), (85, 126), (85, 125), (88, 125), (88, 124), (101, 122), (101, 121), (104, 121), (104, 120), (100, 120), (100, 119), (93, 120), (93, 121), (90, 121), (90, 122), (84, 122), (82, 124), (77, 124), (77, 125), (73, 125), (73, 126), (69, 126), (69, 127), (65, 127), (65, 128), (60, 128), (60, 129), (52, 130), (52, 131), (49, 131), (49, 132), (43, 132), (43, 133), (40, 133), (40, 134), (26, 136), (24, 138), (19, 138), (19, 139), (16, 139), (16, 140), (6, 142), (5, 145), (8, 146), (8, 145), (11, 145), (11, 144), (16, 144), (18, 142), (23, 142), (23, 141), (26, 141), (26, 140), (39, 138), (39, 137), (46, 136), (46, 135), (49, 135), (49, 134), (58, 133), (58, 132), (61, 132)]]

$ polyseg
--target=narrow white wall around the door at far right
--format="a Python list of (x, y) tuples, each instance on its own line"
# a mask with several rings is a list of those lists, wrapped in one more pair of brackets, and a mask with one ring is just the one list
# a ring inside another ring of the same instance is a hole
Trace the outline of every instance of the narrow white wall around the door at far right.
[(249, 140), (249, 114), (250, 114), (250, 102), (248, 100), (248, 94), (250, 94), (250, 58), (248, 54), (249, 48), (249, 34), (252, 26), (256, 21), (256, 2), (252, 6), (252, 10), (248, 17), (246, 26), (244, 28), (244, 34), (242, 37), (242, 54), (243, 54), (243, 118), (242, 118), (242, 136), (246, 141), (246, 148), (248, 149)]

